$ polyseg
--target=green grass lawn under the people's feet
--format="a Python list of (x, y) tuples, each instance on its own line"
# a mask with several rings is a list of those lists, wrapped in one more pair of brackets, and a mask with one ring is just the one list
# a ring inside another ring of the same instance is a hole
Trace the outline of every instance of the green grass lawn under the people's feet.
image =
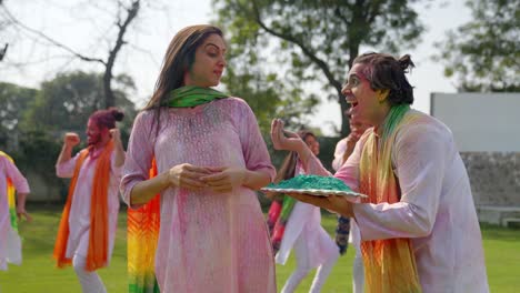
[[(51, 259), (61, 209), (56, 206), (29, 206), (33, 223), (22, 223), (23, 264), (10, 265), (9, 271), (0, 271), (1, 293), (71, 293), (81, 292), (71, 267), (54, 269)], [(126, 210), (126, 208), (122, 208)], [(332, 233), (336, 221), (324, 215), (323, 226)], [(482, 226), (486, 264), (491, 292), (519, 292), (520, 289), (520, 230)], [(99, 271), (108, 292), (127, 292), (127, 243), (126, 213), (119, 218), (119, 230), (112, 262), (108, 269)], [(353, 250), (348, 250), (332, 270), (322, 292), (351, 292)], [(294, 269), (294, 260), (287, 265), (277, 265), (278, 287), (281, 289)], [(298, 287), (297, 292), (308, 292), (313, 272)]]

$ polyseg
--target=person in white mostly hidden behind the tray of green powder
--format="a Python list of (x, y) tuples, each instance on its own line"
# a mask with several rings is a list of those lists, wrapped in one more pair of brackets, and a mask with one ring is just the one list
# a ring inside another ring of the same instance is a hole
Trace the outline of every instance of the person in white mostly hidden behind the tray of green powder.
[[(314, 155), (319, 153), (319, 143), (314, 135), (302, 135)], [(298, 163), (294, 175), (304, 174)], [(274, 260), (286, 264), (291, 250), (294, 250), (297, 267), (289, 276), (283, 293), (293, 292), (298, 284), (314, 267), (318, 267), (309, 292), (320, 292), (338, 261), (339, 250), (327, 231), (321, 226), (321, 209), (304, 202), (297, 201), (287, 222), (283, 238)]]

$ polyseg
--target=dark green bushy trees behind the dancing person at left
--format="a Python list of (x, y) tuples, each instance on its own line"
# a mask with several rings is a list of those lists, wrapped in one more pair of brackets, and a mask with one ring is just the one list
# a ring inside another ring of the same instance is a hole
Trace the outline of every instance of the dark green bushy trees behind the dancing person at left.
[[(128, 75), (118, 75), (114, 81), (117, 107), (126, 114), (119, 125), (126, 144), (136, 117), (127, 97), (136, 85)], [(88, 118), (104, 104), (102, 74), (60, 73), (43, 82), (41, 90), (0, 83), (0, 149), (17, 158), (21, 170), (30, 170), (49, 186), (64, 190), (64, 199), (67, 184), (54, 174), (63, 133), (73, 131), (84, 138)]]

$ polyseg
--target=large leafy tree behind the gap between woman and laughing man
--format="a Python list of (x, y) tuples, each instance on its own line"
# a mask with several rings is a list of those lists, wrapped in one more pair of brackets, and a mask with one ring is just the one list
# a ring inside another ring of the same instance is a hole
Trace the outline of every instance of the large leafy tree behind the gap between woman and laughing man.
[[(304, 92), (324, 78), (324, 91), (348, 110), (342, 81), (361, 46), (389, 52), (409, 49), (423, 31), (412, 4), (419, 0), (214, 0), (219, 24), (249, 64), (270, 50), (277, 71)], [(347, 58), (346, 58), (347, 55)], [(347, 63), (344, 60), (347, 59)], [(349, 132), (342, 115), (341, 135)]]

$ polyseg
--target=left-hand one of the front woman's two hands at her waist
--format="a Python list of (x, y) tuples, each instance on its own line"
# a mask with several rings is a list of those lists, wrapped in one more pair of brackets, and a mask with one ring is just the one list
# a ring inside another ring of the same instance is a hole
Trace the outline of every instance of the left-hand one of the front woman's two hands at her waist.
[(183, 163), (170, 169), (168, 173), (168, 182), (170, 186), (200, 190), (208, 188), (208, 185), (201, 180), (208, 174), (211, 174), (211, 171), (208, 168)]

